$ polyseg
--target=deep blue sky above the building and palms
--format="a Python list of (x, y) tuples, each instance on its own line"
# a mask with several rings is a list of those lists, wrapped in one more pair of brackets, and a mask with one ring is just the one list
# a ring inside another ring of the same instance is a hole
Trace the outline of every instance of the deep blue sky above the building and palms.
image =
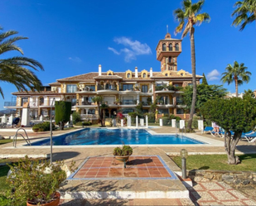
[[(193, 1), (196, 2), (196, 1)], [(220, 74), (234, 60), (244, 62), (252, 73), (249, 84), (239, 87), (256, 89), (254, 80), (256, 56), (255, 23), (244, 31), (231, 26), (235, 0), (205, 0), (202, 12), (210, 14), (210, 23), (196, 26), (196, 74), (207, 75), (209, 84), (221, 84)], [(18, 41), (24, 55), (41, 62), (45, 71), (36, 72), (43, 84), (56, 79), (98, 71), (138, 70), (153, 68), (160, 71), (156, 46), (169, 32), (173, 38), (178, 25), (173, 11), (181, 1), (60, 1), (60, 0), (1, 0), (0, 25), (19, 31), (28, 40)], [(1, 58), (19, 55), (10, 52)], [(182, 41), (178, 69), (191, 72), (189, 36)], [(5, 99), (11, 101), (17, 89), (1, 82)], [(234, 84), (224, 85), (234, 93)]]

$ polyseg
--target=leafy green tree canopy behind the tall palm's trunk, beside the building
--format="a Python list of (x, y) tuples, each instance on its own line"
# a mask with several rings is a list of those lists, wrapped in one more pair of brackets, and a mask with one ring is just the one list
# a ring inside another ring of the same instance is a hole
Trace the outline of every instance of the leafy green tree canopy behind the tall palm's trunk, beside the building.
[[(187, 86), (183, 89), (182, 101), (186, 104), (188, 109), (191, 109), (191, 102), (193, 96), (193, 89), (191, 86)], [(206, 103), (209, 99), (218, 99), (223, 98), (226, 95), (226, 89), (222, 85), (208, 85), (208, 84), (199, 84), (197, 85), (197, 95), (196, 95), (196, 111), (200, 111), (200, 108)]]

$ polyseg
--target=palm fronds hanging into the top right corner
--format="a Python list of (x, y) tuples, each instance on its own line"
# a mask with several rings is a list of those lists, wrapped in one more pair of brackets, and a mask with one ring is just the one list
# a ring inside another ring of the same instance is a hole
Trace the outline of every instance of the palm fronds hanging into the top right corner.
[(239, 31), (243, 31), (244, 27), (256, 20), (256, 1), (244, 0), (234, 3), (234, 7), (237, 7), (232, 13), (232, 17), (235, 16), (232, 25), (240, 26)]

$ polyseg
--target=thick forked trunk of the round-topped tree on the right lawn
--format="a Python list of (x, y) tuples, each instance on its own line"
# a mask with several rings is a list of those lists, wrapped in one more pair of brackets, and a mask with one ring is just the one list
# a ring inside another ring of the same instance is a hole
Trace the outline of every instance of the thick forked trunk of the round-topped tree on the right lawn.
[(228, 156), (229, 165), (237, 165), (240, 162), (239, 157), (234, 156), (234, 152), (241, 135), (242, 132), (235, 132), (234, 137), (232, 138), (230, 132), (225, 133), (225, 151)]

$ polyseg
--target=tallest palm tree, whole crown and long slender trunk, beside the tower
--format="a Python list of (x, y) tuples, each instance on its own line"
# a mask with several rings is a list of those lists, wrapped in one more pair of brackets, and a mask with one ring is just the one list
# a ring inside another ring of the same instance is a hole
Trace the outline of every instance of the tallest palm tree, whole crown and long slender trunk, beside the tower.
[(196, 54), (195, 54), (195, 28), (194, 25), (200, 25), (202, 22), (210, 21), (210, 16), (208, 13), (200, 13), (201, 8), (203, 7), (204, 0), (199, 2), (192, 3), (191, 0), (183, 0), (182, 9), (178, 8), (174, 11), (176, 20), (180, 22), (179, 26), (176, 27), (175, 33), (184, 31), (181, 38), (185, 37), (188, 33), (191, 35), (191, 67), (192, 67), (192, 84), (193, 84), (193, 98), (191, 103), (191, 113), (188, 122), (188, 128), (191, 130), (193, 114), (196, 107)]

